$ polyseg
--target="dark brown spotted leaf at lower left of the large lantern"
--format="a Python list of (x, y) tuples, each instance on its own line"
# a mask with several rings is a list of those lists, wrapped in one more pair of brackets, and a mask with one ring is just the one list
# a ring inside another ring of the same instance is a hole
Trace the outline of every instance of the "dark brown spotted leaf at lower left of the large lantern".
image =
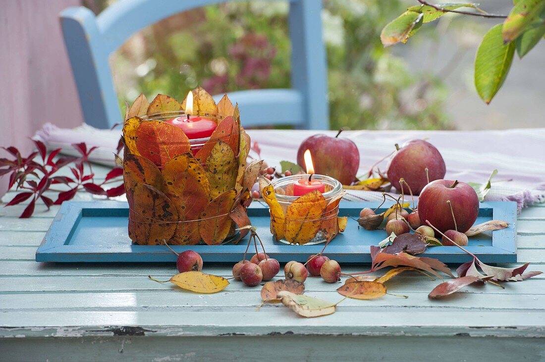
[(129, 237), (140, 245), (155, 245), (174, 236), (178, 210), (167, 195), (153, 186), (137, 183), (127, 190)]

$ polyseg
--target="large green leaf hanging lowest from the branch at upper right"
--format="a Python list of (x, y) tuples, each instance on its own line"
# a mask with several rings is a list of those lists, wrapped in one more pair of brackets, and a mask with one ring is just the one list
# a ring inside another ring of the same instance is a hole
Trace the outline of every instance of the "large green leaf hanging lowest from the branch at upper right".
[(514, 43), (504, 45), (502, 24), (494, 26), (482, 39), (475, 57), (475, 88), (487, 104), (504, 84), (514, 55)]

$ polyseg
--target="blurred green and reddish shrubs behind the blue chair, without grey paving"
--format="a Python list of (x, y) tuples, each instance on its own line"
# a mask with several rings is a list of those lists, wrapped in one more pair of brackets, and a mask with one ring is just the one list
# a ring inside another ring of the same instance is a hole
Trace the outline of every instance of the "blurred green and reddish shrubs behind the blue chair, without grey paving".
[[(448, 92), (440, 79), (409, 70), (380, 42), (384, 24), (407, 4), (324, 1), (331, 128), (449, 128), (443, 111)], [(112, 57), (120, 105), (141, 92), (183, 99), (197, 85), (212, 94), (290, 87), (288, 6), (210, 5), (137, 33)]]

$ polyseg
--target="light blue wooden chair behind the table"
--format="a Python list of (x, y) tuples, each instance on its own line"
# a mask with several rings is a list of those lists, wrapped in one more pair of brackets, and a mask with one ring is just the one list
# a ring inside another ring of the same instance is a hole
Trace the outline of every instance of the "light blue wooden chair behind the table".
[[(122, 120), (108, 57), (132, 34), (181, 11), (226, 1), (233, 0), (122, 0), (98, 16), (84, 7), (62, 11), (64, 41), (85, 122), (109, 128)], [(229, 93), (229, 98), (240, 105), (244, 126), (329, 128), (320, 10), (320, 0), (290, 0), (293, 88)], [(218, 101), (221, 96), (214, 98)]]

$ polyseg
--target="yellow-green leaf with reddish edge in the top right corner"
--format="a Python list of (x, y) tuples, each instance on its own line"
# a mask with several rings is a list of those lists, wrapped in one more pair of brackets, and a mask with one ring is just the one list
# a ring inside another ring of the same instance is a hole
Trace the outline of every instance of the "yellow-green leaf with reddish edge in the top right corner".
[(507, 19), (505, 19), (502, 29), (504, 42), (511, 42), (530, 24), (536, 21), (537, 17), (545, 10), (545, 1), (543, 0), (519, 0), (515, 2), (513, 9)]

